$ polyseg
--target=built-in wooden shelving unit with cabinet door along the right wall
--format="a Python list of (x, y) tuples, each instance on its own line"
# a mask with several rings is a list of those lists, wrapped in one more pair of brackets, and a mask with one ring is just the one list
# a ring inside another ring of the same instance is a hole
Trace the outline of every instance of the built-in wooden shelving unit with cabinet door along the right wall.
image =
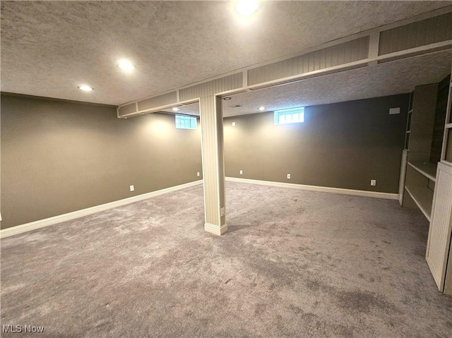
[(398, 200), (429, 220), (425, 258), (439, 291), (452, 296), (451, 76), (410, 95)]

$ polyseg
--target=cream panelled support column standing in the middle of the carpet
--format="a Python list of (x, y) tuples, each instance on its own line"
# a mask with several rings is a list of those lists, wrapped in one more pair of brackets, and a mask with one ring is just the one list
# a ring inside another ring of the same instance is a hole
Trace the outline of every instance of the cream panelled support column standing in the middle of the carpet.
[(221, 98), (201, 97), (201, 149), (203, 153), (204, 230), (215, 235), (227, 231), (225, 217), (225, 160)]

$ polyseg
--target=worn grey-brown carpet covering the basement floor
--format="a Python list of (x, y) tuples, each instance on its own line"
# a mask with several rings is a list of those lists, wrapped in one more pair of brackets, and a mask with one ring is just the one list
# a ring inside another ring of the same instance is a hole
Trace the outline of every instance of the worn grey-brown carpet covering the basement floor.
[(1, 337), (452, 337), (428, 222), (396, 201), (227, 182), (1, 240)]

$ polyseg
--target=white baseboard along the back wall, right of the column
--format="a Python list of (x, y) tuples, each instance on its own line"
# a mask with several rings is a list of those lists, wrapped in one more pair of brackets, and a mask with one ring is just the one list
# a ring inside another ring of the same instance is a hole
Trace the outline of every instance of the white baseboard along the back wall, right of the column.
[(238, 183), (251, 183), (261, 186), (275, 186), (278, 188), (292, 188), (306, 191), (319, 191), (321, 193), (340, 193), (343, 195), (355, 195), (371, 198), (386, 198), (387, 200), (397, 200), (398, 194), (396, 193), (379, 193), (377, 191), (363, 191), (343, 188), (329, 188), (326, 186), (305, 186), (304, 184), (295, 183), (283, 183), (273, 181), (260, 181), (257, 179), (239, 179), (237, 177), (226, 177), (226, 181), (238, 182)]

